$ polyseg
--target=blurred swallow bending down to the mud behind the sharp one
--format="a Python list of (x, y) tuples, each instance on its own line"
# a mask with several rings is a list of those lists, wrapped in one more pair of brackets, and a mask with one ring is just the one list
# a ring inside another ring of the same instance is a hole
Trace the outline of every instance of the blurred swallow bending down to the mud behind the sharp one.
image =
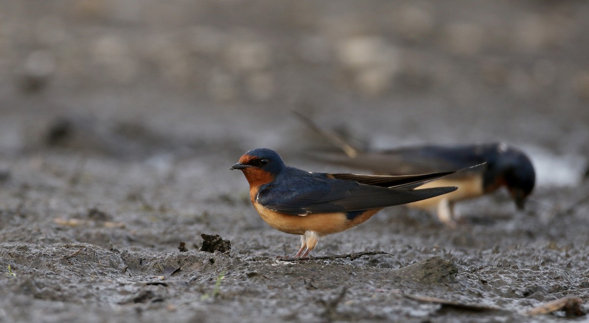
[[(450, 194), (408, 204), (408, 207), (437, 211), (438, 218), (454, 225), (454, 203), (477, 198), (506, 187), (518, 209), (534, 189), (535, 171), (530, 158), (521, 150), (504, 143), (441, 146), (421, 145), (366, 151), (327, 132), (305, 116), (299, 118), (325, 136), (343, 152), (317, 152), (315, 158), (333, 164), (368, 169), (375, 174), (405, 175), (461, 169), (436, 181), (436, 185), (455, 186)], [(472, 165), (477, 165), (472, 167)], [(422, 188), (427, 188), (425, 184)]]

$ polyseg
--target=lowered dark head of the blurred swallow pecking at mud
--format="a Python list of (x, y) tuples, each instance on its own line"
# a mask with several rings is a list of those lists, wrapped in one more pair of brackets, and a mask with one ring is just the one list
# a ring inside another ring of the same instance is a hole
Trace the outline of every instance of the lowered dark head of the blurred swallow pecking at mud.
[(485, 174), (488, 191), (501, 185), (507, 187), (518, 209), (523, 209), (525, 199), (534, 189), (536, 174), (530, 158), (517, 148), (499, 144), (494, 156), (489, 156)]

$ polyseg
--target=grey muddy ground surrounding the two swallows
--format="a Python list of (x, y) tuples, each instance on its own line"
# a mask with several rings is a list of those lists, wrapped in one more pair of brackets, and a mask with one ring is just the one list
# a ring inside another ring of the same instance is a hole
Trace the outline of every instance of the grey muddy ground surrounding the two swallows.
[[(0, 322), (587, 319), (521, 314), (589, 298), (587, 2), (27, 0), (0, 18)], [(292, 109), (378, 148), (520, 146), (533, 200), (465, 202), (456, 229), (389, 208), (314, 255), (389, 254), (282, 261), (299, 238), (230, 165), (267, 146), (358, 172), (305, 156), (326, 143)], [(231, 250), (199, 251), (203, 233)]]

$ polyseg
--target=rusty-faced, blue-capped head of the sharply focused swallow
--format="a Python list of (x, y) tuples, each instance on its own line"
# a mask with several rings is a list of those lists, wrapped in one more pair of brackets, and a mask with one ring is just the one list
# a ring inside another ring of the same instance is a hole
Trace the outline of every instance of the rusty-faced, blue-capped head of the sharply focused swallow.
[(252, 187), (272, 182), (284, 168), (286, 165), (280, 155), (268, 148), (252, 149), (231, 166), (231, 169), (240, 169)]

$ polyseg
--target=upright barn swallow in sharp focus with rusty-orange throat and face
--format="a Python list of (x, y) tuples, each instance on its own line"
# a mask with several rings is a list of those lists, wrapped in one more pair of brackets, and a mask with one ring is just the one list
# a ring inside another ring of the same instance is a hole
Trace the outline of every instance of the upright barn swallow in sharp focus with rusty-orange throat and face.
[(307, 172), (286, 166), (267, 148), (246, 152), (231, 169), (243, 172), (252, 204), (270, 227), (301, 235), (294, 257), (306, 257), (320, 237), (356, 227), (382, 208), (456, 189), (415, 189), (453, 171), (401, 176)]

